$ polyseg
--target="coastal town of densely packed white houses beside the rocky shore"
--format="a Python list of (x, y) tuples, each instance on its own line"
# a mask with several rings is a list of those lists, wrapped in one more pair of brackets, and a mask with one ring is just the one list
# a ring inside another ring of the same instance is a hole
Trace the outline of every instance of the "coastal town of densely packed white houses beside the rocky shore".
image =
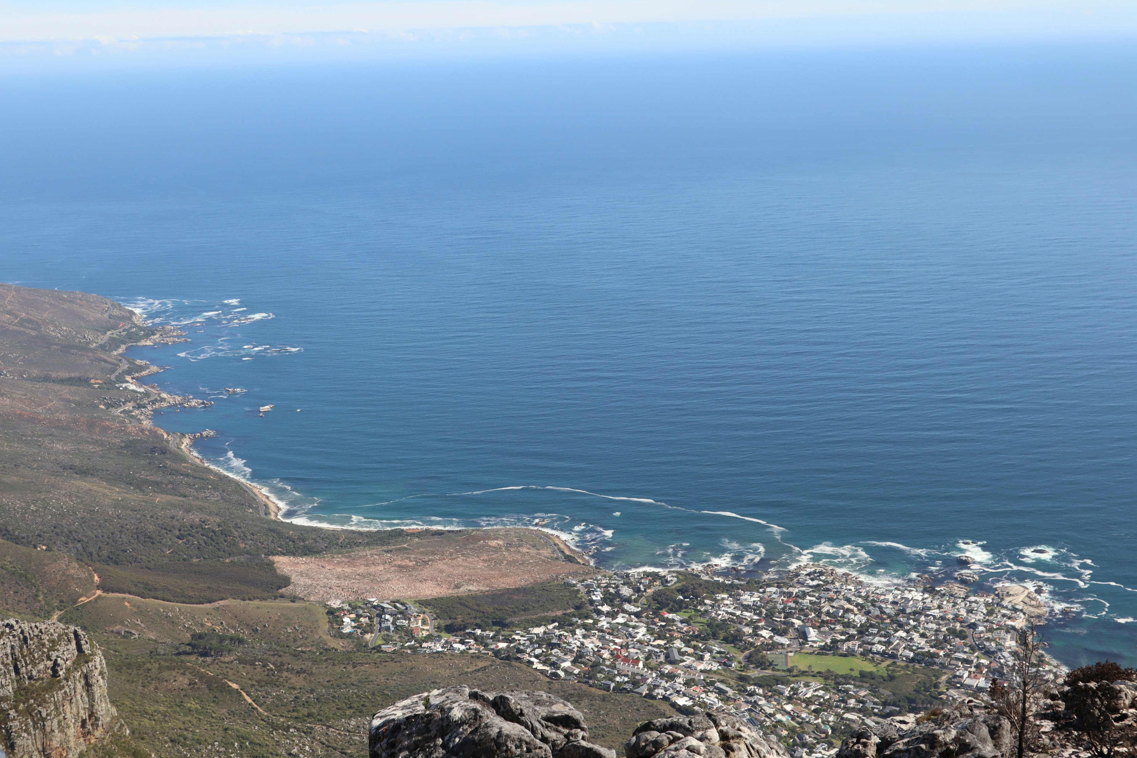
[[(528, 628), (447, 633), (412, 602), (332, 602), (375, 650), (516, 660), (554, 680), (729, 710), (802, 755), (828, 755), (873, 720), (981, 697), (1040, 620), (1029, 588), (873, 584), (805, 565), (760, 578), (617, 572), (567, 580), (591, 611)], [(1043, 675), (1059, 680), (1047, 663)]]

